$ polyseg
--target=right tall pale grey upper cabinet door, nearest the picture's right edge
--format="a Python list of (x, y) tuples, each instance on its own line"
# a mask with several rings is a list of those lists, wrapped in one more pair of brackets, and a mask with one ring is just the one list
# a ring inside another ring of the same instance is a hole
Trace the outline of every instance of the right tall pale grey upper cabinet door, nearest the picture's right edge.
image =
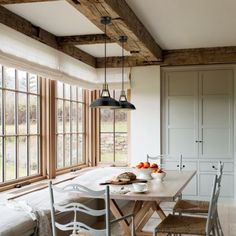
[(199, 157), (232, 157), (232, 88), (231, 70), (200, 73)]

